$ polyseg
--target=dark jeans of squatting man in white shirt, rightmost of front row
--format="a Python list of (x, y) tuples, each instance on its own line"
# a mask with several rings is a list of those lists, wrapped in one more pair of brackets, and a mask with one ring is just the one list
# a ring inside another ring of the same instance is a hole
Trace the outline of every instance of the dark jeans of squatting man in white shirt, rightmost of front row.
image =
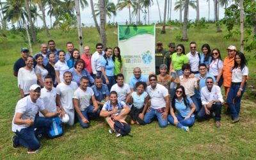
[(204, 107), (202, 107), (200, 109), (200, 111), (198, 111), (198, 113), (197, 113), (198, 120), (203, 120), (203, 119), (211, 116), (212, 112), (214, 111), (215, 121), (220, 121), (220, 119), (221, 119), (221, 107), (222, 107), (221, 102), (216, 102), (215, 104), (212, 104), (211, 109), (209, 109), (210, 115), (206, 115), (205, 109), (204, 109)]

